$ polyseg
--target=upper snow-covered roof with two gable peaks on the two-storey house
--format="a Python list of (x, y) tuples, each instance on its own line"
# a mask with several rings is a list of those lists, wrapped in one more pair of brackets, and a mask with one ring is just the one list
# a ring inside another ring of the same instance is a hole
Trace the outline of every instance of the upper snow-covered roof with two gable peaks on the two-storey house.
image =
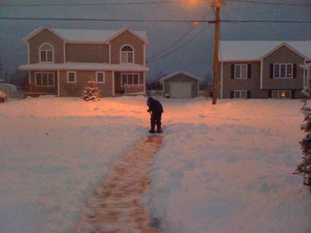
[(114, 38), (116, 35), (124, 31), (129, 31), (138, 36), (141, 40), (143, 40), (146, 44), (149, 44), (147, 40), (147, 34), (145, 31), (132, 31), (128, 28), (122, 28), (121, 30), (93, 30), (93, 29), (50, 29), (46, 26), (41, 26), (40, 28), (35, 29), (32, 33), (27, 35), (23, 41), (27, 43), (27, 41), (35, 36), (36, 34), (42, 32), (44, 29), (51, 31), (56, 34), (67, 43), (75, 42), (91, 42), (91, 43), (106, 43), (107, 41)]

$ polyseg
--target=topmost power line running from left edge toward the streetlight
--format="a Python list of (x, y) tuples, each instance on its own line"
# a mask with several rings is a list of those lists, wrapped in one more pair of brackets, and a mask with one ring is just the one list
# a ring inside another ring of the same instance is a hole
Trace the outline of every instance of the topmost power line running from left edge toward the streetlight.
[(0, 6), (110, 6), (110, 5), (142, 5), (142, 4), (167, 4), (184, 2), (203, 2), (207, 0), (173, 0), (150, 2), (120, 2), (120, 3), (59, 3), (59, 4), (0, 4)]

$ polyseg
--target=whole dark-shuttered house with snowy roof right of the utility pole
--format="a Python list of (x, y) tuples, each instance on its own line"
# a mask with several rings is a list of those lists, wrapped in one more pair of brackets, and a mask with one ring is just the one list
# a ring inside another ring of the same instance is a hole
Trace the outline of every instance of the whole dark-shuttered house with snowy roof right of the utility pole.
[(221, 41), (219, 59), (221, 99), (298, 99), (310, 85), (311, 41)]

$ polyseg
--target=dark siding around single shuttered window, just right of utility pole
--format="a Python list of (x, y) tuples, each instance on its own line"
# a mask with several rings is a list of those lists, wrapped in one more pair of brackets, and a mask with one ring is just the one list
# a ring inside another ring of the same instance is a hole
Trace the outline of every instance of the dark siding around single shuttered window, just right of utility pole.
[[(231, 65), (250, 64), (250, 79), (232, 79)], [(268, 98), (268, 92), (260, 89), (260, 62), (224, 62), (223, 63), (223, 99), (230, 98), (232, 90), (251, 91), (252, 99)]]

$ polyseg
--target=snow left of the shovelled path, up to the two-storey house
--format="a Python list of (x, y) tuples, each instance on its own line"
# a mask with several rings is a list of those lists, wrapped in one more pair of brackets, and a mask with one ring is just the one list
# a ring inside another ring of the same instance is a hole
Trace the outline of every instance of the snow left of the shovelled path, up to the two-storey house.
[(129, 107), (109, 101), (49, 97), (8, 105), (0, 112), (0, 232), (75, 232), (112, 161), (146, 129), (133, 117), (108, 116)]

